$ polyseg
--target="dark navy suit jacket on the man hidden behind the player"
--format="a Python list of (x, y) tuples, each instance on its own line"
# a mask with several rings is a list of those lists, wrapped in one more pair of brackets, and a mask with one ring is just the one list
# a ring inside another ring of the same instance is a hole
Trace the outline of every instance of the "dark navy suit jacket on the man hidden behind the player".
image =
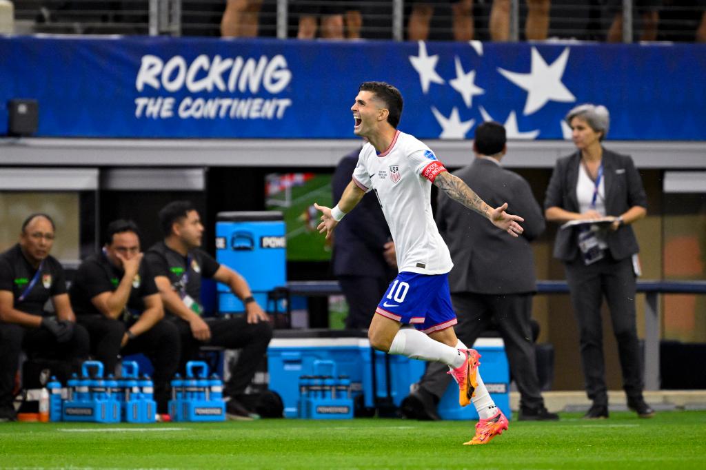
[[(338, 163), (331, 183), (337, 202), (351, 182), (360, 149)], [(390, 241), (390, 229), (373, 191), (344, 217), (333, 232), (333, 274), (336, 276), (394, 277), (383, 258), (383, 246)], [(392, 275), (392, 276), (390, 276)]]

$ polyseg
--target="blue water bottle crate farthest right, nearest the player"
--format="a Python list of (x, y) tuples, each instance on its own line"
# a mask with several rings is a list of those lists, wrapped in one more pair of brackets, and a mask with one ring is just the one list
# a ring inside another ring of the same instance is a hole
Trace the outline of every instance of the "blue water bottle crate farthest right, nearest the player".
[(299, 380), (299, 417), (309, 419), (351, 419), (353, 398), (350, 379), (337, 375), (334, 361), (314, 361), (313, 376)]

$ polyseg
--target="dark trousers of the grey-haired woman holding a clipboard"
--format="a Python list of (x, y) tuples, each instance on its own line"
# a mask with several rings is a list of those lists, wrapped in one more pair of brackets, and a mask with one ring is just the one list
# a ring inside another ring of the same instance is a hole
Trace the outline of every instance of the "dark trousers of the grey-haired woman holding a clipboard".
[(579, 328), (581, 363), (588, 397), (608, 403), (603, 356), (601, 304), (608, 301), (613, 332), (623, 372), (623, 388), (628, 397), (642, 397), (640, 346), (635, 325), (635, 272), (630, 258), (605, 258), (585, 265), (582, 260), (564, 263), (571, 303)]

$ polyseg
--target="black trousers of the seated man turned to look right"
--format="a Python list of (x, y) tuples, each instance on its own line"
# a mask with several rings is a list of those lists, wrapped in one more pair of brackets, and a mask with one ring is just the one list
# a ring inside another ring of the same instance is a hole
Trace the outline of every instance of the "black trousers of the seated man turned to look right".
[(230, 370), (225, 393), (236, 396), (245, 391), (253, 380), (253, 375), (267, 352), (272, 339), (272, 325), (267, 322), (248, 323), (246, 318), (205, 318), (211, 330), (208, 342), (198, 341), (191, 334), (189, 323), (171, 315), (169, 323), (179, 330), (181, 338), (181, 359), (179, 369), (184, 370), (186, 363), (198, 358), (198, 349), (202, 346), (217, 346), (225, 349), (240, 349), (238, 361)]

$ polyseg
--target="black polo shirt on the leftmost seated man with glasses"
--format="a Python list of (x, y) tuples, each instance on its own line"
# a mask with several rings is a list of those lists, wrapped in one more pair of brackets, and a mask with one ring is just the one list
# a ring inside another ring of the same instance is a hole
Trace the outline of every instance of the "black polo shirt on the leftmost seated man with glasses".
[(20, 301), (20, 296), (32, 283), (37, 269), (22, 254), (22, 248), (17, 243), (8, 251), (0, 254), (0, 291), (11, 291), (15, 299), (14, 308), (31, 315), (44, 316), (44, 304), (47, 300), (59, 294), (66, 294), (66, 277), (64, 267), (56, 258), (49, 255), (44, 258), (42, 271), (37, 277), (32, 289)]

